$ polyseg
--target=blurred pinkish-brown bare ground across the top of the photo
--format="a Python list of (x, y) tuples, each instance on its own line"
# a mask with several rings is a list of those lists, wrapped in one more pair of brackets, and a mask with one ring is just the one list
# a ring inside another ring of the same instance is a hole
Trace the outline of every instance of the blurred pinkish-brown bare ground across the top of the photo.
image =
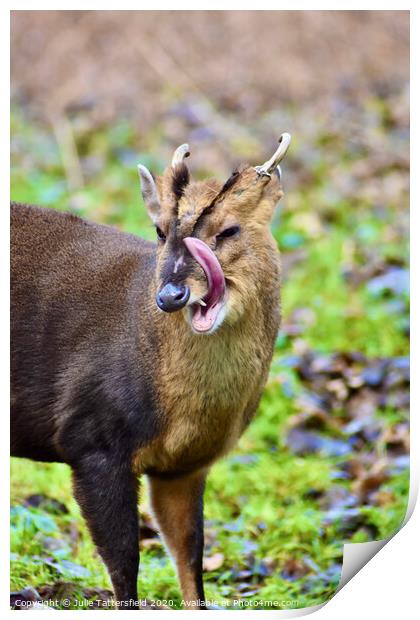
[(197, 98), (244, 122), (398, 90), (408, 11), (13, 11), (12, 94), (153, 123)]

